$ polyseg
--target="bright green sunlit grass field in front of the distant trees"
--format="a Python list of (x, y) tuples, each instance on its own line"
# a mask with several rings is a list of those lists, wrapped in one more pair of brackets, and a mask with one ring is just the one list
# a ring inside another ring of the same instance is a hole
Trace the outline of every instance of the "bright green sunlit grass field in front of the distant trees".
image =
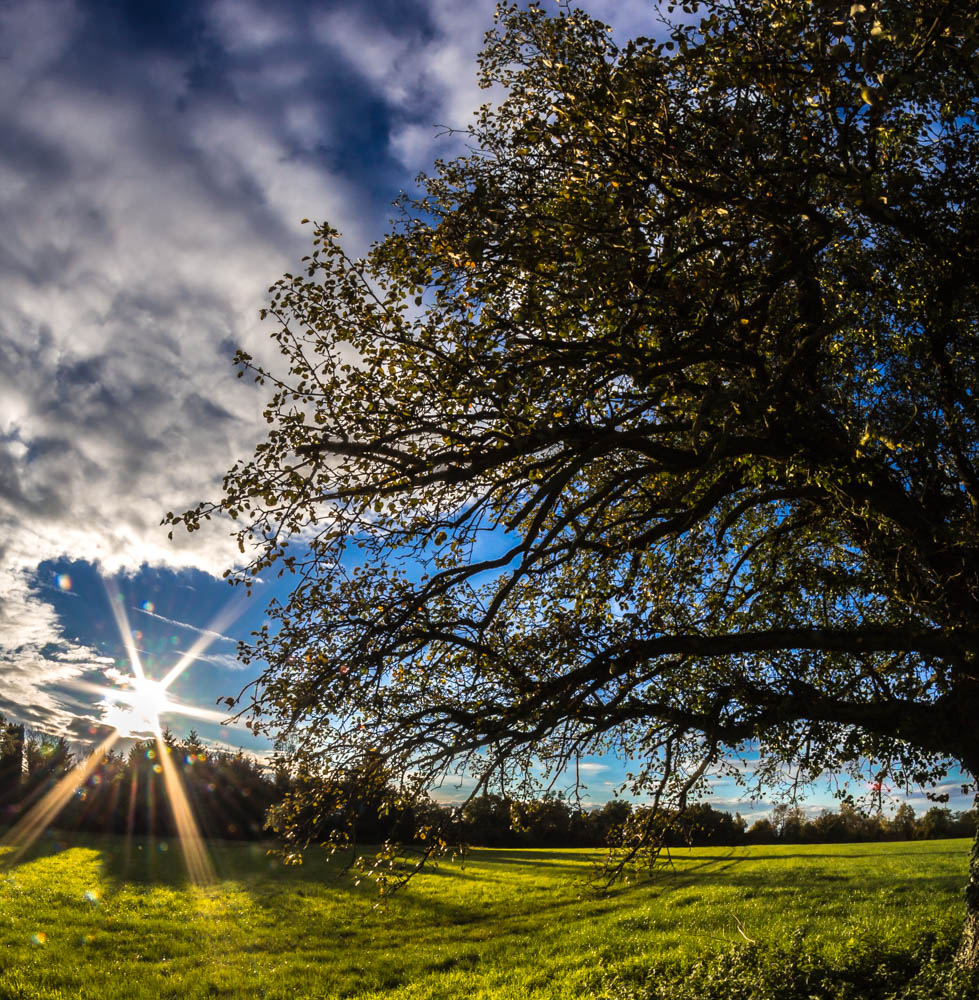
[(602, 996), (651, 963), (682, 966), (804, 928), (829, 956), (923, 929), (953, 937), (967, 841), (678, 851), (654, 881), (597, 896), (598, 852), (477, 851), (375, 907), (317, 861), (210, 845), (187, 884), (175, 844), (48, 835), (0, 869), (0, 998)]

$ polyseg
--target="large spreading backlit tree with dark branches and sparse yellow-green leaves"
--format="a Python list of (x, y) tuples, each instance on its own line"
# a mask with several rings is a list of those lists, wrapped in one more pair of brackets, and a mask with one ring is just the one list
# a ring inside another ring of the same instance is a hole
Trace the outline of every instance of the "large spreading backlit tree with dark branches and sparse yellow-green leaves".
[(168, 520), (295, 574), (241, 707), (310, 767), (979, 774), (974, 5), (684, 10), (505, 7), (473, 151), (271, 290), (268, 438)]

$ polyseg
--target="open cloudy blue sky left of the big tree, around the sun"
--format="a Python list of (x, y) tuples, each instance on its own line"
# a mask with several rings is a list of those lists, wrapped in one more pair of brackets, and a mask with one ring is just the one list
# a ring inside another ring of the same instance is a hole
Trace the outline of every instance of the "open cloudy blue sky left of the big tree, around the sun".
[[(585, 6), (619, 40), (657, 31), (645, 0)], [(493, 8), (0, 3), (7, 719), (81, 742), (104, 731), (94, 687), (129, 670), (122, 622), (154, 677), (209, 640), (172, 688), (209, 714), (167, 715), (177, 735), (268, 749), (221, 725), (215, 702), (253, 679), (235, 641), (282, 585), (240, 602), (221, 579), (230, 536), (170, 542), (160, 521), (219, 496), (261, 438), (262, 391), (231, 359), (272, 356), (258, 313), (307, 252), (301, 220), (360, 252), (417, 173), (458, 149), (439, 133), (486, 99), (475, 57)], [(600, 800), (621, 768), (586, 764)]]

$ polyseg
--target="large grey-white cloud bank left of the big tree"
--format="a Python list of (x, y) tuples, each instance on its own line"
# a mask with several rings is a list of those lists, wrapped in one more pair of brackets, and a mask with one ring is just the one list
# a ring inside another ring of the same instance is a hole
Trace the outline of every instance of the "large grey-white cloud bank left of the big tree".
[[(295, 30), (237, 0), (214, 18), (228, 50)], [(86, 29), (71, 4), (0, 12), (17, 39), (0, 41), (0, 704), (55, 731), (77, 717), (56, 687), (101, 658), (31, 589), (37, 565), (234, 561), (227, 528), (171, 543), (161, 517), (219, 495), (262, 433), (231, 354), (272, 353), (258, 311), (306, 251), (299, 219), (363, 245), (370, 216), (368, 195), (297, 155), (329, 114), (302, 73), (270, 69), (264, 104), (192, 93), (189, 55), (106, 52), (86, 75), (68, 58)], [(299, 109), (291, 124), (269, 101)]]

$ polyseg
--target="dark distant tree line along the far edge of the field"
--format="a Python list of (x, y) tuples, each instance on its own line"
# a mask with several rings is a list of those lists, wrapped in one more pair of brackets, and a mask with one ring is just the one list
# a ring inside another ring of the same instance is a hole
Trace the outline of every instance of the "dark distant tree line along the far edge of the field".
[[(589, 808), (562, 794), (531, 802), (480, 795), (461, 808), (432, 798), (402, 801), (382, 771), (351, 774), (343, 788), (320, 786), (241, 751), (207, 747), (191, 731), (183, 739), (164, 734), (165, 752), (179, 774), (205, 837), (257, 840), (270, 831), (313, 830), (325, 841), (341, 827), (361, 843), (402, 840), (420, 829), (441, 829), (459, 842), (485, 847), (604, 847), (643, 820), (644, 807), (614, 798)], [(112, 751), (68, 800), (56, 820), (62, 828), (133, 835), (175, 834), (160, 748), (154, 740), (128, 752)], [(0, 716), (0, 824), (10, 826), (77, 763), (63, 738), (10, 725)], [(339, 803), (353, 802), (341, 811)], [(337, 804), (336, 806), (334, 804)], [(838, 812), (807, 815), (798, 806), (776, 805), (771, 816), (748, 825), (735, 813), (707, 802), (657, 818), (670, 846), (691, 844), (808, 844), (969, 837), (977, 810), (953, 812), (934, 805), (917, 816), (908, 803), (892, 816), (864, 812), (844, 802)]]

